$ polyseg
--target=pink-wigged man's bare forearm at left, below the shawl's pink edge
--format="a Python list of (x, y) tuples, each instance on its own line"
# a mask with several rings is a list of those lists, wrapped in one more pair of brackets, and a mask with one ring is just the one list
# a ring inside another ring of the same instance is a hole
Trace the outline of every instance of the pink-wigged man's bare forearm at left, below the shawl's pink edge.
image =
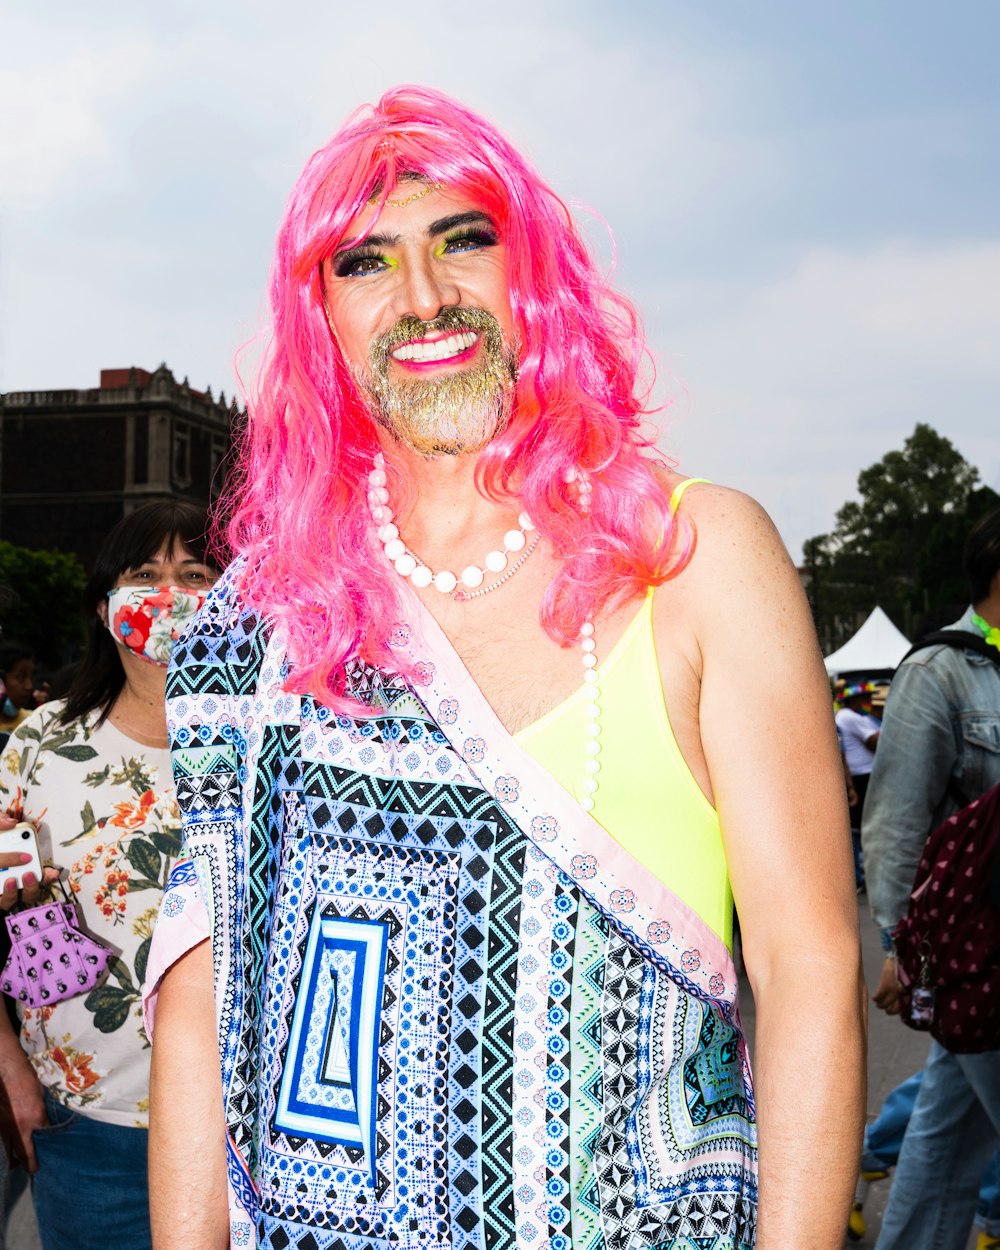
[(166, 972), (150, 1072), (149, 1196), (155, 1250), (225, 1250), (226, 1130), (211, 950)]

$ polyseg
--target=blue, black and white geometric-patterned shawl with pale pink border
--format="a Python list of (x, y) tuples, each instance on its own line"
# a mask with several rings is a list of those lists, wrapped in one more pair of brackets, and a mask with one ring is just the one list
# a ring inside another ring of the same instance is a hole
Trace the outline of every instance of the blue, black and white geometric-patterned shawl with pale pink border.
[(171, 670), (185, 850), (148, 985), (151, 1019), (211, 936), (231, 1245), (752, 1246), (721, 940), (514, 742), (415, 596), (414, 684), (352, 665), (354, 720), (282, 691), (232, 582)]

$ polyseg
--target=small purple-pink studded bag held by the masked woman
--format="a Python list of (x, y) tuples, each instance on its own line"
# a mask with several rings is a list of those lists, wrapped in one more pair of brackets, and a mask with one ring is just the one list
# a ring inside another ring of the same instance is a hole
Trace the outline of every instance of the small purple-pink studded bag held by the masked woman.
[(92, 990), (114, 959), (81, 932), (72, 902), (52, 899), (6, 918), (10, 955), (0, 990), (31, 1008), (51, 1006)]

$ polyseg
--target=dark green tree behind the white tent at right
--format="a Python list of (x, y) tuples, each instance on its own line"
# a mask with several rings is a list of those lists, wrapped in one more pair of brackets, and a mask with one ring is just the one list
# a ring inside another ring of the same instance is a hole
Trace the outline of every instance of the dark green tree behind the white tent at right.
[(929, 425), (858, 478), (860, 499), (830, 534), (809, 539), (804, 562), (824, 650), (844, 642), (879, 604), (912, 636), (920, 619), (968, 598), (961, 550), (970, 526), (1000, 504), (979, 470)]

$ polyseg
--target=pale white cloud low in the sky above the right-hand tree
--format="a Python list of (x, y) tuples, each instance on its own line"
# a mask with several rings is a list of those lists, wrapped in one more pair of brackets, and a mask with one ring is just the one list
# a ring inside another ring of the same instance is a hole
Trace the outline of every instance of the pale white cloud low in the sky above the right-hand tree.
[(655, 338), (690, 399), (665, 445), (760, 495), (796, 552), (918, 421), (998, 488), (998, 289), (991, 240), (812, 248), (770, 281), (672, 288)]

